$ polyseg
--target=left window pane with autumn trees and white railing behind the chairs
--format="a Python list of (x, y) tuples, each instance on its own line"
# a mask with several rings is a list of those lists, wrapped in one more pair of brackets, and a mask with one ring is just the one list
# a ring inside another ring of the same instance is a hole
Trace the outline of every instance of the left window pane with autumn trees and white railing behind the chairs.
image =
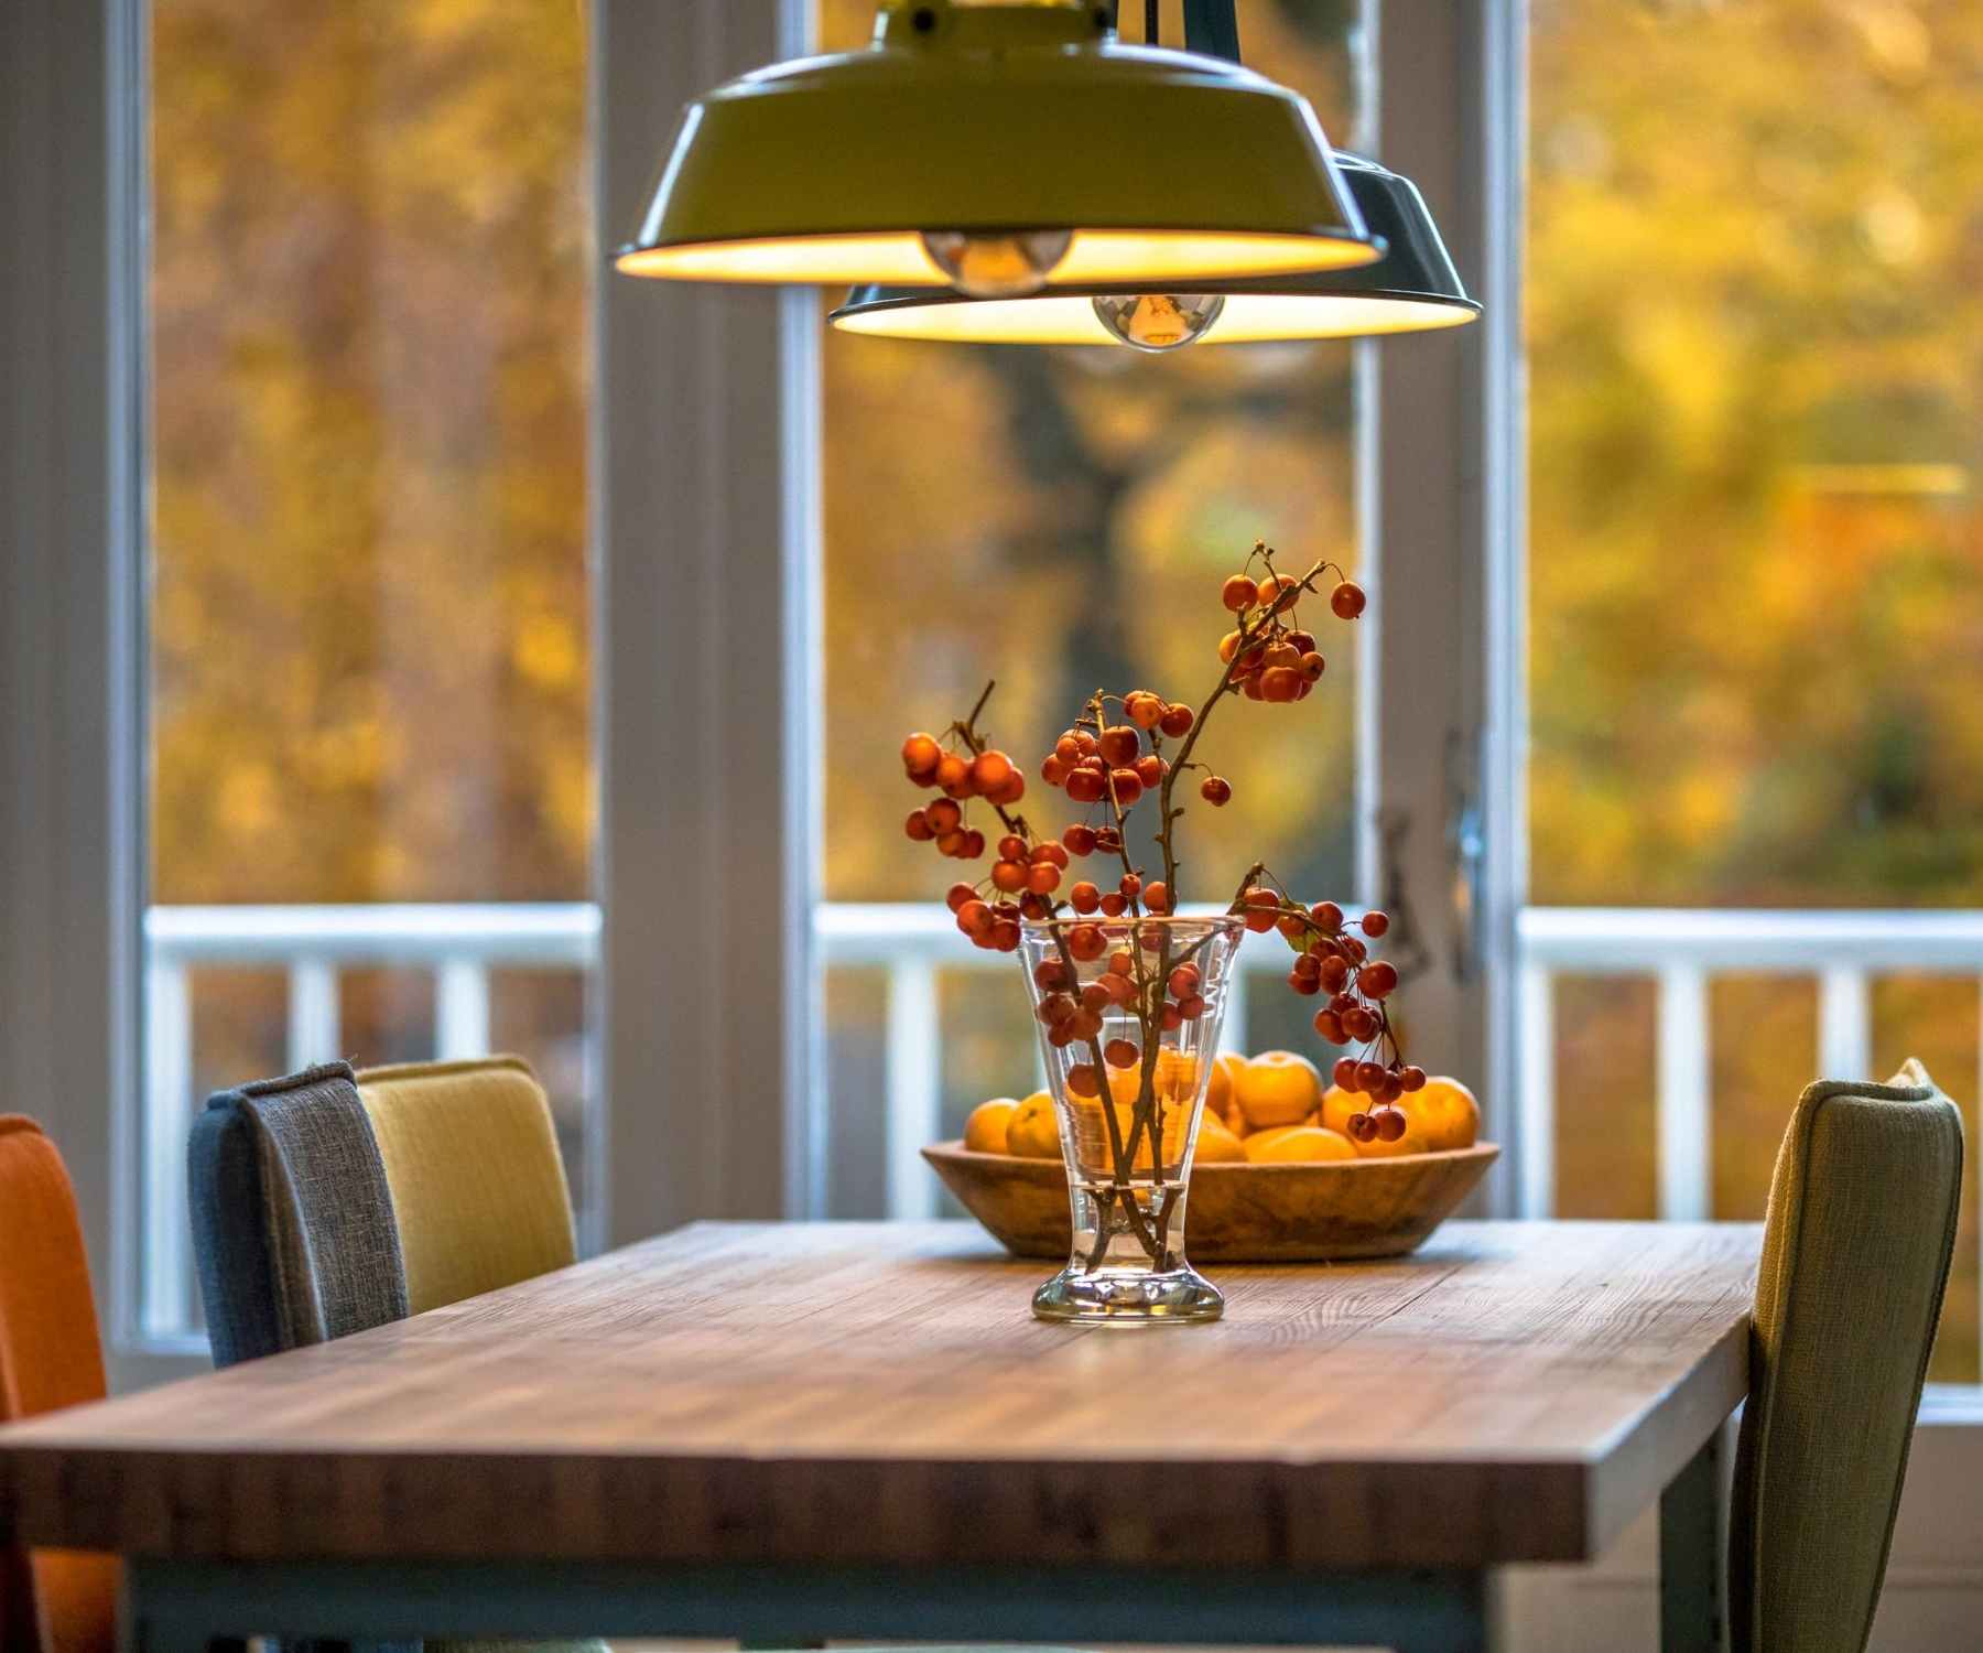
[(585, 54), (577, 0), (153, 0), (155, 1205), (194, 1083), (583, 1038)]

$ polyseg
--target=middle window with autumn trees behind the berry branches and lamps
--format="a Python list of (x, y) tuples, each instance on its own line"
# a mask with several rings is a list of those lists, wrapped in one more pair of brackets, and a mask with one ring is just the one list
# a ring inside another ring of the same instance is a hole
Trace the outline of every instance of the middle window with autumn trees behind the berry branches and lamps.
[[(825, 48), (873, 24), (873, 0), (819, 8)], [(1182, 42), (1176, 6), (1164, 28)], [(1124, 6), (1124, 38), (1140, 30)], [(1243, 46), (1337, 141), (1352, 135), (1358, 6), (1251, 4)], [(1162, 157), (1124, 133), (1089, 163)], [(1011, 960), (950, 933), (954, 863), (902, 839), (902, 736), (962, 716), (990, 679), (988, 726), (1013, 752), (1047, 750), (1099, 683), (1200, 693), (1224, 629), (1212, 593), (1255, 538), (1358, 564), (1358, 377), (1342, 343), (1154, 361), (821, 339), (827, 1193), (835, 1214), (918, 1214), (936, 1187), (916, 1149), (988, 1095), (1033, 1089), (1037, 1056)], [(1188, 822), (1186, 899), (1224, 899), (1253, 855), (1303, 887), (1350, 887), (1358, 693), (1339, 649), (1313, 716), (1231, 718), (1208, 738), (1241, 802)], [(1289, 994), (1249, 1002), (1235, 1042), (1313, 1044)]]

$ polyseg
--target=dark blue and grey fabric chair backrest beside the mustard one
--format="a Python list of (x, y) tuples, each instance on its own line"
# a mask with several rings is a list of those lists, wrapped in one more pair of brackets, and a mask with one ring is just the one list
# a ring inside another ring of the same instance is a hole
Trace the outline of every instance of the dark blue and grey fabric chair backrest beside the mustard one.
[(220, 1091), (188, 1145), (216, 1365), (407, 1318), (407, 1268), (351, 1068)]

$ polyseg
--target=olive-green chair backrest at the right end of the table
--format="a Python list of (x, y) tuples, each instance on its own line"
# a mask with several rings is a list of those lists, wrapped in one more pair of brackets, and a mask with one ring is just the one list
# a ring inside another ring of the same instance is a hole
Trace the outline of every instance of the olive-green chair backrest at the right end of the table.
[(1729, 1524), (1735, 1653), (1860, 1653), (1955, 1248), (1963, 1125), (1918, 1062), (1810, 1085), (1769, 1191)]

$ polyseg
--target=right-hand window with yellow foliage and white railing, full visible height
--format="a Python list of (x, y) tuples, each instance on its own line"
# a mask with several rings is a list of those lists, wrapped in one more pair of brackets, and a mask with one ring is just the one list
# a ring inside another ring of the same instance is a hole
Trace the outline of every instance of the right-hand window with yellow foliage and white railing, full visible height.
[[(1814, 1068), (1918, 1054), (1975, 1133), (1983, 925), (1941, 909), (1983, 891), (1979, 71), (1961, 0), (1531, 8), (1525, 1074), (1563, 1214), (1761, 1216)], [(1931, 1375), (1979, 1377), (1973, 1183)]]

